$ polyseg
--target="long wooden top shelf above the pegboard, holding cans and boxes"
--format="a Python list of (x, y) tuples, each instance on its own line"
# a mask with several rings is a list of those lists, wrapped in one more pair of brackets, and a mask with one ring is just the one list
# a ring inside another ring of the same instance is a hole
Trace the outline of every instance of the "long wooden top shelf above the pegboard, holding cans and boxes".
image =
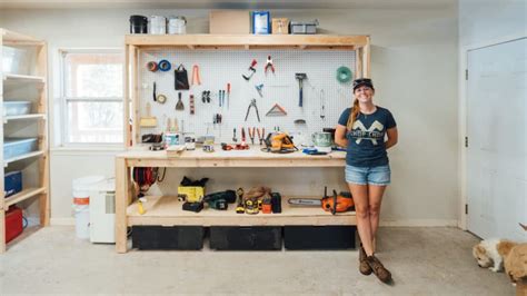
[(369, 36), (335, 34), (127, 34), (137, 47), (185, 47), (189, 49), (334, 49), (355, 50), (369, 45)]

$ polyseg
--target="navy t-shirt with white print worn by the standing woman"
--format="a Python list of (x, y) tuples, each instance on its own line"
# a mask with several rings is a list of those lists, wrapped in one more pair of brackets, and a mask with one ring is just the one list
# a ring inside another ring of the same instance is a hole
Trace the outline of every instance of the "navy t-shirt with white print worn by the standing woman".
[[(338, 124), (346, 126), (351, 108), (344, 110)], [(351, 130), (346, 132), (348, 147), (346, 164), (355, 167), (377, 167), (388, 165), (385, 147), (386, 130), (396, 126), (394, 116), (388, 109), (377, 106), (370, 115), (359, 114)]]

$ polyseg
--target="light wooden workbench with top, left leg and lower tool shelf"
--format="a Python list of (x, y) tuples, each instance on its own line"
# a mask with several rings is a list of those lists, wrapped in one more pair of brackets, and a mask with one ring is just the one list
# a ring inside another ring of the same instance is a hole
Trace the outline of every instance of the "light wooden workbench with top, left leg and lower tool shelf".
[[(322, 156), (309, 156), (300, 151), (291, 154), (270, 154), (252, 146), (248, 150), (223, 151), (215, 147), (215, 152), (200, 148), (183, 151), (179, 156), (168, 156), (166, 151), (131, 149), (116, 158), (116, 250), (127, 251), (127, 227), (135, 225), (200, 225), (209, 226), (288, 226), (288, 225), (356, 225), (355, 211), (331, 215), (318, 207), (294, 207), (287, 204), (291, 196), (282, 196), (281, 214), (236, 214), (235, 204), (228, 210), (203, 209), (200, 213), (185, 211), (182, 203), (173, 196), (147, 196), (143, 204), (146, 213), (138, 213), (133, 201), (135, 190), (131, 179), (133, 167), (177, 167), (177, 168), (312, 168), (346, 165), (346, 152), (334, 151)], [(232, 188), (236, 189), (236, 188)], [(305, 197), (305, 196), (302, 196)], [(306, 198), (320, 198), (310, 196)]]

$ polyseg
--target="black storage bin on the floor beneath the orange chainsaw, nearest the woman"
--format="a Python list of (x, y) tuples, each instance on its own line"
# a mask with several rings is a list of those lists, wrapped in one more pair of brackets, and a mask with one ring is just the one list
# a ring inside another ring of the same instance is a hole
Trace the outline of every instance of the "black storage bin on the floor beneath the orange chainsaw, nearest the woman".
[(355, 226), (285, 226), (286, 249), (355, 248)]

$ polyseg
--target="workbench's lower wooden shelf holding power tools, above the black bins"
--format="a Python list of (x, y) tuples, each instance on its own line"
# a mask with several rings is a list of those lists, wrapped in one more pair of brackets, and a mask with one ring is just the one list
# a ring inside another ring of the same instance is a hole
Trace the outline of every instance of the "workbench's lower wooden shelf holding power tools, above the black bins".
[[(236, 204), (229, 204), (227, 210), (206, 208), (200, 213), (182, 210), (182, 203), (176, 196), (147, 196), (143, 204), (146, 213), (138, 213), (137, 201), (128, 206), (128, 225), (201, 225), (201, 226), (284, 226), (284, 225), (356, 225), (355, 211), (331, 215), (321, 207), (291, 206), (287, 203), (291, 196), (282, 196), (281, 214), (248, 215), (237, 214)], [(317, 197), (302, 197), (317, 198)], [(320, 198), (320, 197), (318, 197)]]

